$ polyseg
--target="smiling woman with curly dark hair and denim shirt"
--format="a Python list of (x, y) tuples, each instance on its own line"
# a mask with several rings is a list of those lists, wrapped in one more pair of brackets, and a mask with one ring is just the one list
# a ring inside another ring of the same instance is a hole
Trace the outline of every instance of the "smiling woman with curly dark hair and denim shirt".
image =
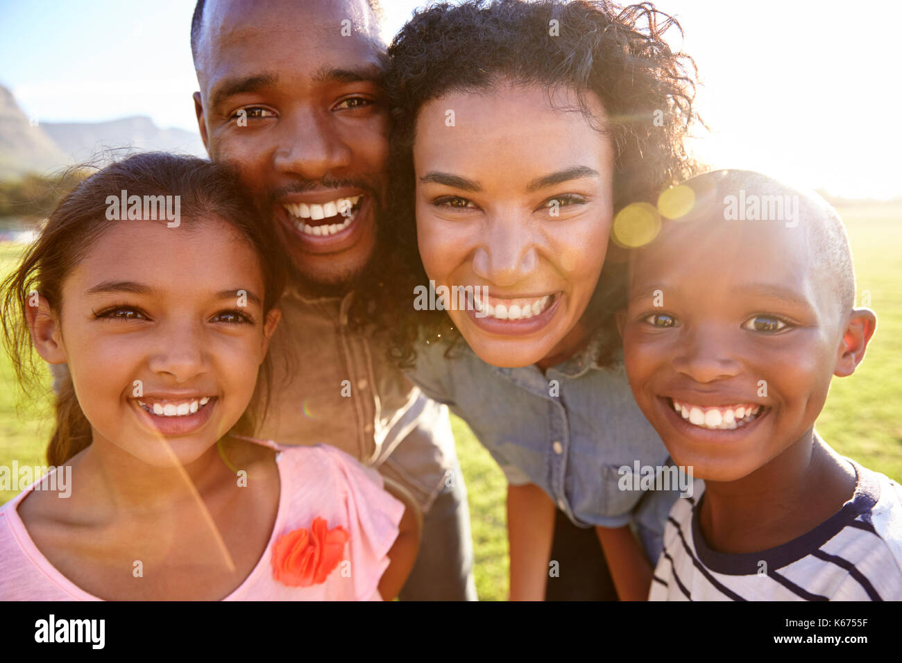
[[(630, 394), (613, 319), (622, 262), (605, 265), (614, 213), (693, 168), (691, 60), (670, 51), (675, 22), (660, 15), (647, 3), (436, 5), (389, 50), (386, 217), (411, 274), (397, 341), (414, 382), (507, 475), (511, 599), (614, 597), (599, 541), (617, 594), (644, 598), (648, 561), (641, 583), (617, 573), (643, 557), (628, 524), (654, 560), (676, 496), (621, 481), (624, 466), (666, 465), (667, 450)], [(411, 289), (430, 281), (474, 296), (414, 311)]]

